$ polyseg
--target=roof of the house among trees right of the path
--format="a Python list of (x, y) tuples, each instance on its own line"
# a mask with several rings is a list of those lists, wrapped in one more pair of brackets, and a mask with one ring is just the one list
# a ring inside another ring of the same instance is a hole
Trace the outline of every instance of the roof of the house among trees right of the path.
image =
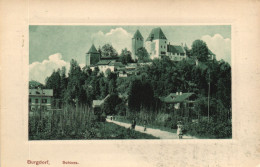
[(176, 93), (170, 93), (166, 97), (161, 97), (160, 99), (165, 103), (181, 103), (188, 99), (190, 96), (192, 96), (194, 93), (182, 93), (176, 94)]

